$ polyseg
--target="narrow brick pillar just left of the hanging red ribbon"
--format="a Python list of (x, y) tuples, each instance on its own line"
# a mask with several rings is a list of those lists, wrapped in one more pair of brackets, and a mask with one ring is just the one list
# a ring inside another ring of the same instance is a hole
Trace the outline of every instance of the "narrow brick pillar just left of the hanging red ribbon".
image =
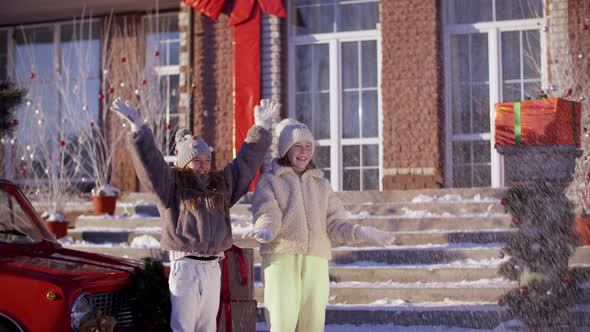
[(233, 159), (233, 29), (195, 12), (193, 26), (193, 132), (214, 151), (214, 165)]

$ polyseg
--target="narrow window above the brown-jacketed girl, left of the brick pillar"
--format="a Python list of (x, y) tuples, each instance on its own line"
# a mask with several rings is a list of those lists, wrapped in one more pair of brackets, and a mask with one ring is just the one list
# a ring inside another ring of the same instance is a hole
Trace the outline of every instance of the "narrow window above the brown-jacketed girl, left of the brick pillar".
[[(146, 36), (146, 77), (148, 84), (154, 85), (157, 93), (144, 98), (157, 98), (155, 105), (162, 112), (158, 124), (154, 127), (159, 131), (156, 138), (162, 145), (165, 155), (174, 155), (174, 133), (178, 129), (179, 101), (179, 53), (180, 33), (178, 31), (178, 14), (153, 15), (144, 20)], [(155, 92), (155, 91), (154, 91)]]

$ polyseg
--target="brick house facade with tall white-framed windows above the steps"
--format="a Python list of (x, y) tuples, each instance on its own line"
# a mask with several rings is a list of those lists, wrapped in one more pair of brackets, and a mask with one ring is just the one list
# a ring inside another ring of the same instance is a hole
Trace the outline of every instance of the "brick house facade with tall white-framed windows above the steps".
[[(335, 190), (500, 187), (496, 102), (545, 89), (589, 106), (588, 85), (577, 84), (589, 71), (585, 0), (283, 0), (286, 18), (259, 12), (258, 59), (236, 48), (239, 1), (209, 1), (223, 2), (217, 17), (190, 1), (24, 2), (31, 6), (0, 5), (0, 78), (43, 81), (43, 70), (64, 68), (69, 44), (94, 45), (95, 63), (87, 65), (96, 68), (79, 78), (93, 98), (80, 107), (98, 124), (110, 95), (145, 98), (145, 78), (129, 66), (155, 68), (165, 96), (163, 151), (172, 155), (174, 129), (189, 127), (214, 146), (220, 167), (234, 156), (243, 125), (236, 95), (273, 98), (283, 117), (312, 129), (315, 163)], [(80, 21), (73, 17), (89, 13), (97, 33), (68, 40)], [(101, 37), (107, 27), (123, 33)], [(252, 92), (236, 79), (254, 64), (260, 83)], [(51, 80), (41, 85), (40, 112), (60, 119), (65, 101), (52, 94)], [(10, 140), (3, 140), (6, 165), (19, 158), (6, 148)], [(14, 167), (5, 172), (22, 176)], [(112, 174), (115, 186), (139, 189), (124, 148)]]

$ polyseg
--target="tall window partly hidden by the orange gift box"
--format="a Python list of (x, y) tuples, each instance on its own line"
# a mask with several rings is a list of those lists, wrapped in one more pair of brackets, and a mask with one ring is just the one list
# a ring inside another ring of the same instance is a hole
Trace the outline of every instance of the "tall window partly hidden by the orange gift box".
[(541, 0), (446, 0), (446, 164), (453, 187), (502, 186), (493, 107), (543, 83)]

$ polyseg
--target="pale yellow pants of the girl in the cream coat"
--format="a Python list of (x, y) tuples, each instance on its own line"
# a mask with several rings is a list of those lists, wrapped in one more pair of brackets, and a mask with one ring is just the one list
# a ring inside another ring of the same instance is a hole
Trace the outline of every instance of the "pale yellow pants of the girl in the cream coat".
[(330, 294), (328, 260), (275, 254), (262, 256), (264, 307), (270, 332), (322, 332)]

